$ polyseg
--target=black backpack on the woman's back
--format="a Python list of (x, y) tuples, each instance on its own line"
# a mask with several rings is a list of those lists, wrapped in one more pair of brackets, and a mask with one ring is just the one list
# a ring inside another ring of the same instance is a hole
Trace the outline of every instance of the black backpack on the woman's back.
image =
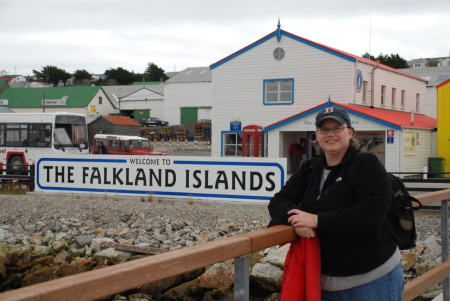
[[(392, 198), (386, 225), (400, 250), (414, 248), (417, 238), (414, 211), (421, 209), (422, 204), (409, 195), (405, 184), (398, 177), (390, 173), (388, 176), (392, 185)], [(418, 206), (414, 207), (413, 203), (417, 203)]]

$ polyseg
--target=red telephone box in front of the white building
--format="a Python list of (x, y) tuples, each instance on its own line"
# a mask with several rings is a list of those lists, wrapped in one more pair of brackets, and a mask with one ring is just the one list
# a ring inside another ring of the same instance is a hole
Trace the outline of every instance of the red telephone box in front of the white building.
[(248, 125), (242, 130), (242, 157), (264, 157), (264, 130)]

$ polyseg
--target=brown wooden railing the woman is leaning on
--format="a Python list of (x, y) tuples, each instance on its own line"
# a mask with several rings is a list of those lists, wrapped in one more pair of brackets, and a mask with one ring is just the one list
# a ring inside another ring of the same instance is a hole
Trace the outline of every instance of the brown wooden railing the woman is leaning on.
[[(442, 217), (445, 229), (443, 228), (441, 232), (443, 263), (406, 284), (403, 300), (414, 299), (441, 280), (448, 280), (447, 277), (450, 275), (450, 261), (447, 261), (447, 200), (450, 199), (450, 189), (415, 197), (424, 205), (434, 202), (445, 204), (442, 206), (445, 208), (443, 209), (445, 218)], [(235, 261), (239, 261), (253, 252), (289, 243), (295, 239), (292, 227), (276, 226), (8, 291), (0, 294), (0, 300), (98, 300), (227, 259), (234, 258)], [(248, 274), (248, 268), (240, 271)], [(235, 279), (237, 277), (235, 272)], [(248, 279), (245, 275), (241, 278)], [(235, 285), (235, 300), (248, 300), (248, 291), (236, 297), (236, 289)], [(446, 298), (448, 298), (448, 281), (444, 288), (444, 300), (448, 300)]]

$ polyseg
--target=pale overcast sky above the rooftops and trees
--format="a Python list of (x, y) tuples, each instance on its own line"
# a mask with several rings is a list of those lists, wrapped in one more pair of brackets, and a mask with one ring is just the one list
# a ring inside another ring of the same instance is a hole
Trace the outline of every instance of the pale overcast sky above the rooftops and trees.
[(0, 70), (209, 66), (277, 28), (355, 55), (450, 56), (450, 0), (0, 0)]

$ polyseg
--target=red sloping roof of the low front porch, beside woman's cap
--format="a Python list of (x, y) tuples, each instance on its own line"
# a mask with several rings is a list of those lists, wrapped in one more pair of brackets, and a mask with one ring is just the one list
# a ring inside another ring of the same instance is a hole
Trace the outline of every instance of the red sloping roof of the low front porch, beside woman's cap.
[[(437, 119), (425, 115), (414, 114), (414, 124), (411, 124), (411, 113), (383, 109), (372, 109), (354, 105), (335, 104), (345, 108), (354, 115), (365, 115), (383, 122), (401, 127), (433, 129), (437, 127)], [(363, 116), (364, 117), (364, 116)]]

